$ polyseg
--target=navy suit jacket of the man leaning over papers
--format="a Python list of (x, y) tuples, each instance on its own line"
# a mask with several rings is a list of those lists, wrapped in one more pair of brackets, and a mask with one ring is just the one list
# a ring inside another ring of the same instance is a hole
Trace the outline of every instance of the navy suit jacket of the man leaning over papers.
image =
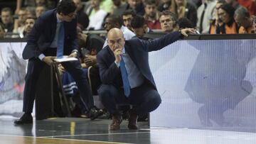
[[(31, 32), (28, 34), (26, 47), (23, 50), (23, 59), (38, 57), (43, 51), (49, 48), (55, 37), (57, 28), (57, 11), (52, 9), (43, 13), (38, 18)], [(75, 49), (78, 49), (77, 38), (77, 19), (70, 22), (64, 21), (65, 43), (64, 55), (69, 55)]]

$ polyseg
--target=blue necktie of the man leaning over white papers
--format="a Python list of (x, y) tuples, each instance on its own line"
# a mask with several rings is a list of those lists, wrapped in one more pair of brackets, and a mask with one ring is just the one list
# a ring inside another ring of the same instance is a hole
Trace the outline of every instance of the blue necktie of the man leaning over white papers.
[(63, 57), (63, 48), (64, 48), (64, 26), (63, 22), (60, 22), (60, 27), (58, 31), (58, 40), (57, 40), (57, 57), (62, 58)]

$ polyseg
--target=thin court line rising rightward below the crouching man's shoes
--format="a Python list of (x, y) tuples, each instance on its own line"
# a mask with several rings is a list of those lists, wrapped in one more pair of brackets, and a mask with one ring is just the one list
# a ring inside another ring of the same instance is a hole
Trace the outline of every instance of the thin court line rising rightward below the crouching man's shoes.
[(134, 132), (134, 133), (91, 133), (91, 134), (83, 134), (83, 135), (51, 135), (51, 136), (42, 136), (37, 138), (54, 138), (54, 137), (68, 137), (68, 136), (94, 136), (94, 135), (124, 135), (124, 134), (143, 134), (143, 133), (150, 133), (147, 132)]

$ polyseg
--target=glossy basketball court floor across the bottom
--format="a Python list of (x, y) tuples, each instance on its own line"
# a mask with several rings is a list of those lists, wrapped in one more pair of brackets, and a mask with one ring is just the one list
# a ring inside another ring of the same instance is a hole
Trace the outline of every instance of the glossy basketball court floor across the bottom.
[(138, 131), (108, 131), (111, 120), (52, 118), (33, 125), (14, 126), (14, 119), (0, 118), (0, 143), (256, 143), (256, 133), (212, 131), (187, 128), (149, 128), (140, 122)]

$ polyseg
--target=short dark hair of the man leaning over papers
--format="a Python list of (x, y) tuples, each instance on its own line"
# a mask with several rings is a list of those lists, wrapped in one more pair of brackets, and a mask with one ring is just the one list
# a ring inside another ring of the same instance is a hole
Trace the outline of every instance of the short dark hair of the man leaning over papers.
[(57, 5), (57, 12), (68, 15), (75, 12), (76, 6), (72, 0), (60, 0)]

